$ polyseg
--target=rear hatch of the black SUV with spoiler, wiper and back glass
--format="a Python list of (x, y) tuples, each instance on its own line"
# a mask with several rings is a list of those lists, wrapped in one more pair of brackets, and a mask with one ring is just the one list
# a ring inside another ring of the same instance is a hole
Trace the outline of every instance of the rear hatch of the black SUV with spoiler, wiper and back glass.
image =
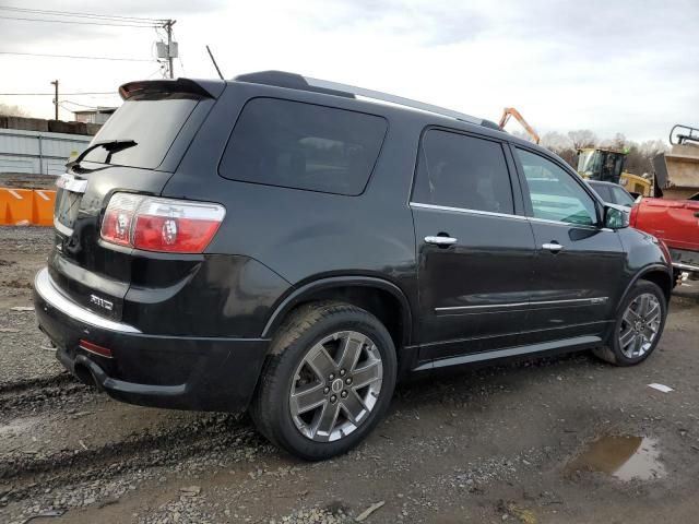
[(187, 79), (120, 87), (125, 103), (57, 182), (49, 273), (72, 300), (121, 319), (139, 257), (100, 240), (109, 198), (116, 191), (158, 195), (224, 87)]

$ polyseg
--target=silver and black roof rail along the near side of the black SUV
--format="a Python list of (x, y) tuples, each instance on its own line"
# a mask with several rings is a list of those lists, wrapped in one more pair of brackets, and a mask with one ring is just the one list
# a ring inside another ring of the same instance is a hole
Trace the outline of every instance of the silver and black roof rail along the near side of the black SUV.
[(412, 100), (402, 96), (390, 95), (388, 93), (381, 93), (380, 91), (365, 90), (364, 87), (357, 87), (355, 85), (341, 84), (337, 82), (330, 82), (328, 80), (312, 79), (310, 76), (301, 76), (296, 73), (287, 73), (284, 71), (261, 71), (259, 73), (248, 73), (236, 76), (234, 80), (239, 82), (251, 82), (258, 84), (276, 85), (280, 87), (291, 87), (293, 90), (315, 91), (319, 93), (327, 93), (336, 96), (362, 96), (364, 98), (370, 98), (374, 100), (386, 102), (399, 106), (410, 107), (420, 111), (431, 112), (440, 115), (442, 117), (453, 118), (469, 123), (475, 123), (476, 126), (485, 126), (488, 128), (500, 128), (489, 120), (472, 117), (463, 112), (453, 111), (445, 107), (434, 106), (431, 104), (425, 104), (423, 102)]

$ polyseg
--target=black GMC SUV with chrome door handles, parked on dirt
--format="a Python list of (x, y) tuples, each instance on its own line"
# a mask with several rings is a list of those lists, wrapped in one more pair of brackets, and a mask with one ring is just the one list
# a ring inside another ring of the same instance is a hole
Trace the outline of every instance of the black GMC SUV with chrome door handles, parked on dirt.
[(34, 295), (60, 361), (117, 400), (249, 408), (319, 460), (410, 372), (657, 344), (666, 248), (491, 122), (281, 72), (120, 94), (58, 181)]

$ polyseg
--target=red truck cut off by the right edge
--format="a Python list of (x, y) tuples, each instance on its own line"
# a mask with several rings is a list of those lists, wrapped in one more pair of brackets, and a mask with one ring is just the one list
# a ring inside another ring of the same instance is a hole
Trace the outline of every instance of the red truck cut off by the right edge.
[(667, 245), (676, 273), (699, 279), (699, 201), (641, 199), (629, 223)]

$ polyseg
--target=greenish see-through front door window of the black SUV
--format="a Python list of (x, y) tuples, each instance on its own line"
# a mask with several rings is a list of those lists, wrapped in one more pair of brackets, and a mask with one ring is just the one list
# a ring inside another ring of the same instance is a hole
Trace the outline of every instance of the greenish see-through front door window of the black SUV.
[(570, 224), (596, 224), (594, 200), (572, 175), (543, 156), (517, 150), (536, 218)]

